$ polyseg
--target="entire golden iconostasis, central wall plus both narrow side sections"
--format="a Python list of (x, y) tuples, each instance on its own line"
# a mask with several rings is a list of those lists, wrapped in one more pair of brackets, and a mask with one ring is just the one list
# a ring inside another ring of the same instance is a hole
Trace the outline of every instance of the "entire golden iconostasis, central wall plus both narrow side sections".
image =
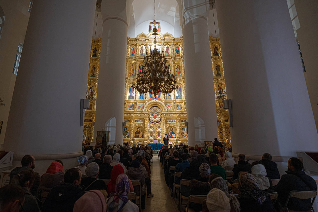
[[(164, 51), (168, 57), (167, 66), (175, 74), (179, 88), (176, 92), (162, 96), (152, 93), (139, 95), (131, 88), (132, 80), (142, 68), (146, 51), (153, 49), (154, 36), (141, 33), (136, 38), (127, 38), (125, 107), (123, 141), (130, 143), (149, 143), (152, 140), (162, 142), (163, 136), (168, 135), (169, 141), (188, 143), (186, 92), (184, 78), (183, 38), (174, 38), (171, 34), (158, 32), (157, 48)], [(88, 69), (87, 95), (93, 97), (90, 108), (85, 110), (83, 138), (93, 142), (95, 109), (97, 100), (98, 72), (100, 61), (101, 38), (92, 40), (91, 57)], [(222, 86), (225, 89), (222, 53), (219, 40), (210, 36), (211, 62), (213, 67), (214, 89), (217, 92)], [(198, 102), (198, 105), (200, 103)], [(219, 139), (229, 141), (230, 128), (228, 111), (223, 109), (222, 100), (216, 100), (217, 121), (219, 123)], [(215, 121), (215, 120), (211, 120)]]

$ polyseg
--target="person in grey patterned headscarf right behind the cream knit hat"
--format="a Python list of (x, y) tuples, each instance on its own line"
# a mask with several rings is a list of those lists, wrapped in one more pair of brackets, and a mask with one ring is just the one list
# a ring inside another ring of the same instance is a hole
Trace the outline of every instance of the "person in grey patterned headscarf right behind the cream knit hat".
[(230, 200), (230, 205), (231, 205), (231, 212), (239, 212), (240, 211), (240, 205), (239, 201), (236, 198), (235, 195), (229, 194), (229, 189), (224, 181), (224, 179), (218, 175), (218, 174), (211, 174), (210, 179), (210, 188), (218, 188), (221, 191), (225, 193), (225, 195), (229, 198)]

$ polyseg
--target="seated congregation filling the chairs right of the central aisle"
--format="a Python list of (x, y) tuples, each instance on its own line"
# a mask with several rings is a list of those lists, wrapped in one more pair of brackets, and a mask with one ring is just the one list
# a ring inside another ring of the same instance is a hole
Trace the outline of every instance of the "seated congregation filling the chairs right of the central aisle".
[[(317, 184), (305, 174), (298, 158), (288, 160), (288, 170), (280, 177), (272, 155), (263, 154), (252, 164), (232, 148), (215, 139), (213, 147), (180, 144), (160, 150), (166, 185), (180, 211), (272, 212), (309, 211), (317, 194)], [(289, 197), (292, 191), (298, 196)], [(311, 196), (310, 196), (311, 195)], [(305, 198), (303, 198), (305, 197)]]

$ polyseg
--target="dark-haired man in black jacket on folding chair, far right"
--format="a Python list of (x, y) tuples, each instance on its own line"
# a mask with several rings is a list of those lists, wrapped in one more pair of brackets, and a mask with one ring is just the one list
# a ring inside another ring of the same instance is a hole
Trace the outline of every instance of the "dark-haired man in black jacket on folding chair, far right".
[[(317, 185), (313, 178), (305, 174), (301, 160), (290, 158), (288, 160), (287, 174), (281, 176), (275, 190), (278, 193), (278, 201), (285, 206), (290, 191), (316, 191)], [(291, 197), (288, 201), (289, 210), (307, 211), (310, 210), (311, 199), (301, 200)]]

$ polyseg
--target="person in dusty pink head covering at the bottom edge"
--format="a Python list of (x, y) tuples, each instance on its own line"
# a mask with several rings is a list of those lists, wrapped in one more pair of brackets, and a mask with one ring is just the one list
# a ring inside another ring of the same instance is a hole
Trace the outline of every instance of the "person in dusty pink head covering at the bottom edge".
[(75, 202), (73, 212), (106, 212), (106, 209), (104, 194), (100, 190), (90, 190)]

